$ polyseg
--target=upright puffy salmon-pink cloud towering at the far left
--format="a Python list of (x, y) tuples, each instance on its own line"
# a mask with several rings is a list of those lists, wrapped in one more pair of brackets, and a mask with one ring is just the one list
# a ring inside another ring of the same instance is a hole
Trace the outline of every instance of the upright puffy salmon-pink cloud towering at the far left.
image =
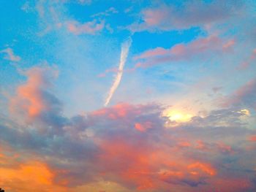
[(58, 72), (45, 66), (31, 68), (24, 74), (28, 80), (18, 86), (16, 95), (10, 99), (10, 111), (23, 114), (26, 118), (37, 118), (42, 113), (53, 110), (57, 99), (47, 90)]

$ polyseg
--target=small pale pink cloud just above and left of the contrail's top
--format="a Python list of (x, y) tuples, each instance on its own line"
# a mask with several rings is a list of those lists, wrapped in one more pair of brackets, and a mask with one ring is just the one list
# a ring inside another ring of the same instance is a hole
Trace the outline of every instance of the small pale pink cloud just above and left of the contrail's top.
[(72, 20), (67, 22), (67, 29), (73, 34), (97, 34), (102, 31), (105, 27), (104, 20), (91, 20), (86, 23), (79, 23), (78, 21)]

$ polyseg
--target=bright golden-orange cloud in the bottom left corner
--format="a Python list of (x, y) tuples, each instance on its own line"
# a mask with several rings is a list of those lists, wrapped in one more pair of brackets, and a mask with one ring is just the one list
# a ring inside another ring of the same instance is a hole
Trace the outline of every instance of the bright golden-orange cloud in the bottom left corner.
[(0, 155), (0, 185), (6, 191), (67, 191), (55, 185), (55, 173), (42, 161), (23, 161), (22, 155)]

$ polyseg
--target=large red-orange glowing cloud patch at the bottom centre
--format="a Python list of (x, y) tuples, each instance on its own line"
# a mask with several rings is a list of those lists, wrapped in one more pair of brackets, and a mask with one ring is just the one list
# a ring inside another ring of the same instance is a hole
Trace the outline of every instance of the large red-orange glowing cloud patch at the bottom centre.
[[(102, 149), (99, 165), (105, 168), (102, 175), (107, 178), (118, 176), (121, 183), (135, 186), (137, 190), (175, 184), (200, 185), (217, 173), (211, 164), (181, 158), (179, 150), (173, 155), (172, 148), (149, 147), (138, 139), (129, 142), (122, 137), (112, 137), (99, 145)], [(189, 145), (189, 142), (184, 145)]]

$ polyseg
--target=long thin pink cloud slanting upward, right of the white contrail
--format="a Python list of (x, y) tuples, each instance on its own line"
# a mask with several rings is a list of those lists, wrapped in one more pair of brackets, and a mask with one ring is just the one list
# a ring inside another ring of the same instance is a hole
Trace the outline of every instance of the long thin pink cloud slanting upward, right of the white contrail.
[(135, 60), (139, 60), (135, 67), (147, 67), (170, 61), (191, 61), (193, 58), (203, 58), (211, 53), (227, 53), (232, 50), (233, 45), (233, 40), (223, 42), (217, 36), (210, 36), (195, 39), (187, 44), (177, 44), (170, 49), (157, 47), (135, 56)]

